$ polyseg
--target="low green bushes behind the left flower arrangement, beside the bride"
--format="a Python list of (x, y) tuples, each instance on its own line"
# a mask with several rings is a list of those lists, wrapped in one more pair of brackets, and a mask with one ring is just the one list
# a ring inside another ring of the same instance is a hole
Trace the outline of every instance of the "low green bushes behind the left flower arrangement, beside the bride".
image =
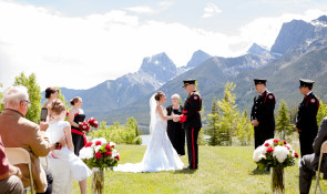
[(125, 125), (115, 122), (113, 125), (108, 126), (106, 122), (101, 122), (99, 130), (92, 131), (91, 136), (104, 137), (117, 144), (142, 144), (137, 122), (134, 118), (130, 118)]

